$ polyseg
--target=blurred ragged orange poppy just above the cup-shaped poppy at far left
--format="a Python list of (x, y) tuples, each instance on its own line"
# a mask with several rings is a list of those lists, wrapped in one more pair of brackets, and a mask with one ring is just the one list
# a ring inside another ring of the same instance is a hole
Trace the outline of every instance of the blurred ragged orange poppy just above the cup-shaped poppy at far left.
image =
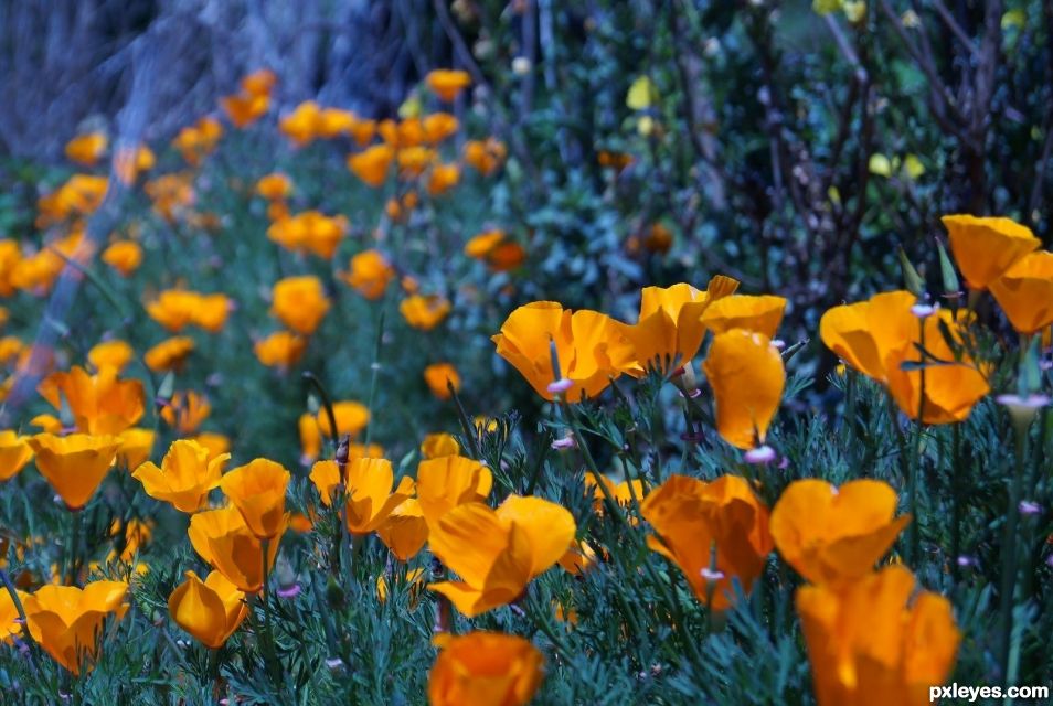
[(65, 399), (74, 425), (87, 434), (120, 434), (139, 421), (146, 409), (142, 383), (118, 379), (113, 367), (88, 375), (74, 366), (68, 373), (52, 373), (36, 389), (55, 409), (62, 409)]

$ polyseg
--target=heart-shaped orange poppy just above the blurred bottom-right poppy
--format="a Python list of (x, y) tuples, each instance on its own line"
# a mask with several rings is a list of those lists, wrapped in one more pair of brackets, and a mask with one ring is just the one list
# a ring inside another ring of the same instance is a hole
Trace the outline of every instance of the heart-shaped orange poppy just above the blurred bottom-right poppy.
[(812, 584), (869, 574), (910, 515), (895, 516), (896, 493), (869, 479), (834, 488), (818, 479), (790, 483), (772, 511), (772, 537), (783, 558)]

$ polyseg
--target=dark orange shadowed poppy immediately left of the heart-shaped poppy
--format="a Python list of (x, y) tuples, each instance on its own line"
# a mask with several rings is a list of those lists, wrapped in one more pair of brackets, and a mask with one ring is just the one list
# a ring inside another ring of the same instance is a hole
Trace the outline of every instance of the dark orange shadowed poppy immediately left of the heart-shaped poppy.
[(671, 475), (640, 511), (656, 533), (647, 546), (677, 564), (695, 597), (714, 610), (734, 603), (733, 579), (748, 593), (772, 553), (767, 507), (736, 475), (710, 483)]

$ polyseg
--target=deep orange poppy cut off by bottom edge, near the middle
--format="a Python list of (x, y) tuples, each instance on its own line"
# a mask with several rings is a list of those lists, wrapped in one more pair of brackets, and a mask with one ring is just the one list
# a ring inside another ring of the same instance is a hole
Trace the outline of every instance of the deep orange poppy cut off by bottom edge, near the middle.
[(428, 675), (430, 706), (523, 706), (543, 678), (544, 657), (517, 635), (475, 631), (450, 638)]

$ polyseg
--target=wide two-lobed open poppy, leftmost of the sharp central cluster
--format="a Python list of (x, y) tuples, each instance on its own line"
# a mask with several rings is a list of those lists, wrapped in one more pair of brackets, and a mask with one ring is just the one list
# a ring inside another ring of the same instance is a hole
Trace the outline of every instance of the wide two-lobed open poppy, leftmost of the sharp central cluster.
[[(520, 307), (491, 340), (498, 355), (549, 400), (554, 398), (549, 384), (556, 379), (574, 383), (564, 394), (566, 399), (577, 402), (602, 393), (613, 377), (640, 371), (624, 324), (596, 311), (572, 312), (554, 301)], [(562, 371), (552, 370), (553, 344)]]

